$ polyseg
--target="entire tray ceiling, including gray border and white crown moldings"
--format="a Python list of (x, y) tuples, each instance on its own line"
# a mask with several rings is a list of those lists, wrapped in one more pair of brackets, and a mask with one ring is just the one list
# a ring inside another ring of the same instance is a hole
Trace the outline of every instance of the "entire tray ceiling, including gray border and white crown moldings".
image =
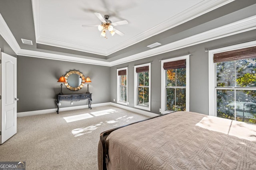
[[(82, 27), (100, 24), (94, 12), (108, 14), (112, 22), (128, 20), (128, 25), (116, 26), (124, 37), (104, 39), (97, 27)], [(254, 29), (255, 0), (0, 1), (0, 35), (16, 55), (103, 66)], [(162, 45), (146, 47), (156, 41)]]

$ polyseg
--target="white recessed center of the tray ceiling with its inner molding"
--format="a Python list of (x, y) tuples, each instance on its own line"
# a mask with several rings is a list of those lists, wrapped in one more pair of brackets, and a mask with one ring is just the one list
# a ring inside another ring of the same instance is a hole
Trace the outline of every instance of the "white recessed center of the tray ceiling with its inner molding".
[[(32, 0), (36, 43), (110, 55), (139, 41), (166, 31), (232, 0)], [(100, 36), (100, 24), (94, 15), (109, 15), (123, 37)], [(149, 45), (149, 44), (148, 44)]]

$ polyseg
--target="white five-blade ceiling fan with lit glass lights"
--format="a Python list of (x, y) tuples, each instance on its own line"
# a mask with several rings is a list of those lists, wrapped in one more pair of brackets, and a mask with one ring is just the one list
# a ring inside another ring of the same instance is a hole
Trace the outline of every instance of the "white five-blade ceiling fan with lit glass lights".
[(107, 38), (107, 36), (106, 36), (107, 31), (109, 31), (112, 36), (115, 33), (117, 33), (120, 36), (124, 36), (124, 33), (122, 33), (121, 31), (118, 31), (113, 26), (125, 25), (125, 24), (128, 24), (128, 21), (122, 20), (122, 21), (112, 22), (112, 21), (108, 20), (109, 19), (108, 15), (105, 15), (103, 18), (102, 15), (98, 12), (94, 12), (94, 14), (100, 19), (101, 25), (82, 25), (82, 27), (98, 27), (99, 31), (102, 31), (100, 35), (105, 38)]

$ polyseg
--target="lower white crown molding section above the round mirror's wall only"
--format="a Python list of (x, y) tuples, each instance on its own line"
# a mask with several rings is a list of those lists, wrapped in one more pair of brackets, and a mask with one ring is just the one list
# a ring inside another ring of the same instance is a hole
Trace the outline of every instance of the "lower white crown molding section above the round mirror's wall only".
[(45, 53), (41, 51), (32, 51), (26, 49), (20, 49), (17, 55), (27, 56), (27, 57), (36, 57), (41, 59), (51, 59), (51, 60), (59, 60), (59, 61), (68, 61), (74, 63), (84, 63), (84, 64), (93, 64), (100, 66), (110, 66), (110, 62), (107, 61), (98, 61), (95, 59), (84, 59), (80, 57), (71, 57), (68, 55), (59, 55), (52, 53)]

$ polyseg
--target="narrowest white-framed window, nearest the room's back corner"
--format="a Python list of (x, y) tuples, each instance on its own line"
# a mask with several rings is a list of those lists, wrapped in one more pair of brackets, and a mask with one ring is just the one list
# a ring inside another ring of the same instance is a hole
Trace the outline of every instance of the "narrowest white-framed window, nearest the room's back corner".
[(117, 69), (117, 103), (128, 105), (127, 102), (127, 67)]

